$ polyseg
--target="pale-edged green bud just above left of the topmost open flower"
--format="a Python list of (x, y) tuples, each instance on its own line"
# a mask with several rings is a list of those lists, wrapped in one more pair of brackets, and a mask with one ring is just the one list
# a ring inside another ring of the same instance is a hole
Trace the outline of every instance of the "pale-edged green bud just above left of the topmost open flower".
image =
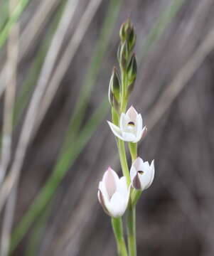
[(109, 103), (116, 110), (119, 109), (120, 102), (120, 80), (117, 73), (117, 68), (113, 68), (112, 76), (109, 82)]

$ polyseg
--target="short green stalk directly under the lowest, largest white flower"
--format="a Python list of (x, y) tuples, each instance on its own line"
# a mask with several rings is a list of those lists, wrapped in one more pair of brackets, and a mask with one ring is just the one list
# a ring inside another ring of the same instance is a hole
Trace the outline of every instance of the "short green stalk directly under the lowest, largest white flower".
[(117, 242), (117, 252), (119, 256), (128, 256), (127, 246), (124, 241), (122, 218), (112, 218), (112, 228)]

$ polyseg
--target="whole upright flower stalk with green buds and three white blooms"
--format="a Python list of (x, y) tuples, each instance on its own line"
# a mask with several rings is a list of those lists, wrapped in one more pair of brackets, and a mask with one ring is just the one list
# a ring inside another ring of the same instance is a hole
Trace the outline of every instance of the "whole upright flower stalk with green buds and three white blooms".
[[(149, 165), (137, 156), (137, 142), (145, 137), (147, 128), (133, 106), (127, 110), (129, 95), (137, 76), (137, 60), (132, 53), (136, 41), (134, 27), (128, 19), (119, 31), (120, 44), (117, 50), (120, 75), (113, 68), (109, 82), (109, 104), (112, 107), (112, 122), (108, 122), (117, 141), (122, 178), (110, 167), (100, 181), (98, 199), (103, 210), (112, 217), (112, 228), (119, 256), (137, 256), (136, 205), (141, 192), (149, 188), (154, 178), (154, 161)], [(132, 167), (129, 171), (125, 142), (128, 142)], [(126, 212), (127, 245), (124, 240), (122, 215)], [(127, 251), (129, 254), (127, 254)]]

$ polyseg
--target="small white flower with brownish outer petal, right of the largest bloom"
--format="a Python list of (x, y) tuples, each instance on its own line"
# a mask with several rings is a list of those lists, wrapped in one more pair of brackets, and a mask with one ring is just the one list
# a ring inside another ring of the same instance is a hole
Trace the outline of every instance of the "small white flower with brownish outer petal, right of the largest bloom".
[(143, 161), (138, 157), (132, 164), (130, 177), (134, 188), (141, 191), (149, 188), (154, 180), (154, 160), (151, 161), (149, 166), (148, 161)]

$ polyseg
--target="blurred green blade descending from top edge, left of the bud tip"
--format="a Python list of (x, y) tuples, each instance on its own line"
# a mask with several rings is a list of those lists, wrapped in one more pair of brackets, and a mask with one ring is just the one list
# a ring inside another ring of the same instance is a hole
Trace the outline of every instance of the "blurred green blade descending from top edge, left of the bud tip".
[(80, 90), (80, 96), (78, 97), (75, 105), (73, 117), (70, 119), (68, 133), (67, 137), (65, 138), (63, 150), (65, 150), (70, 142), (75, 139), (77, 132), (81, 127), (82, 121), (85, 117), (87, 104), (90, 100), (92, 89), (95, 86), (97, 75), (100, 72), (102, 60), (104, 59), (105, 53), (107, 51), (107, 46), (109, 45), (109, 41), (111, 41), (112, 31), (114, 29), (114, 24), (119, 15), (119, 10), (121, 9), (121, 6), (122, 0), (110, 1), (107, 11), (107, 17), (105, 18), (105, 21), (103, 23), (99, 41), (97, 41), (95, 50), (92, 53), (92, 60), (90, 61), (89, 68), (85, 75), (82, 89)]

